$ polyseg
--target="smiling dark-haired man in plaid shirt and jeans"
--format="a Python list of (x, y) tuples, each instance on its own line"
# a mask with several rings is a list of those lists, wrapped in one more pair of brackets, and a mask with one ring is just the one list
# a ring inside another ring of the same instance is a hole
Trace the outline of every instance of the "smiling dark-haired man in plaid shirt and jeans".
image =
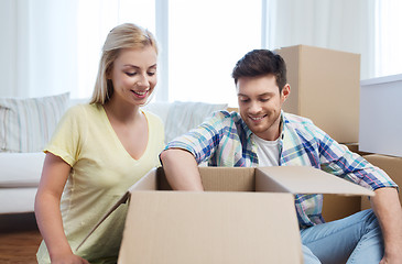
[[(282, 111), (286, 66), (267, 50), (246, 54), (232, 72), (239, 113), (220, 111), (170, 142), (161, 161), (171, 186), (203, 190), (197, 165), (313, 166), (373, 189), (372, 210), (325, 223), (322, 195), (296, 195), (305, 263), (402, 263), (402, 210), (396, 185), (308, 119)], [(324, 84), (323, 84), (324, 85)], [(274, 212), (273, 212), (274, 213)]]

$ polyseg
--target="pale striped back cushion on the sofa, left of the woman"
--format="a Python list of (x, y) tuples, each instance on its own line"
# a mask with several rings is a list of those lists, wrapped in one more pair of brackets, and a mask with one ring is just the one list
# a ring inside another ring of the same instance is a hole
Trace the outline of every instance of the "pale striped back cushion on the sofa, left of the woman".
[(0, 152), (40, 152), (52, 136), (69, 92), (41, 98), (0, 98)]

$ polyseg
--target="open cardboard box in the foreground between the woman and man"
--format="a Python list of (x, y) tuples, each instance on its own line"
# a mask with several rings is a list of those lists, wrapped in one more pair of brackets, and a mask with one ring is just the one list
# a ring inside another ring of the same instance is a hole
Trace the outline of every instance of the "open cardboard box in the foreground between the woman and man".
[(204, 193), (169, 191), (152, 169), (106, 213), (130, 199), (118, 263), (303, 263), (293, 194), (373, 196), (312, 167), (199, 172)]

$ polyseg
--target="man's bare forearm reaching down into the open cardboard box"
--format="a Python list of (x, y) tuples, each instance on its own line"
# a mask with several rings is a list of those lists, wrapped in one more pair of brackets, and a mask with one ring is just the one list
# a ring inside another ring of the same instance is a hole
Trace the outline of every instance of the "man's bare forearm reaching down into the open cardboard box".
[(204, 190), (198, 164), (192, 153), (169, 148), (160, 157), (167, 182), (174, 190)]

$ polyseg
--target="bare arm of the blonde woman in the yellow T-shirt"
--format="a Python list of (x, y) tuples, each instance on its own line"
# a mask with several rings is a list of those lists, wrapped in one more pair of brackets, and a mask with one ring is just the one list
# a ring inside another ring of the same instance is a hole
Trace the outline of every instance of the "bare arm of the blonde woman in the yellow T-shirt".
[(64, 233), (61, 197), (72, 167), (61, 157), (47, 153), (35, 198), (37, 227), (46, 243), (52, 263), (88, 263), (73, 254)]

